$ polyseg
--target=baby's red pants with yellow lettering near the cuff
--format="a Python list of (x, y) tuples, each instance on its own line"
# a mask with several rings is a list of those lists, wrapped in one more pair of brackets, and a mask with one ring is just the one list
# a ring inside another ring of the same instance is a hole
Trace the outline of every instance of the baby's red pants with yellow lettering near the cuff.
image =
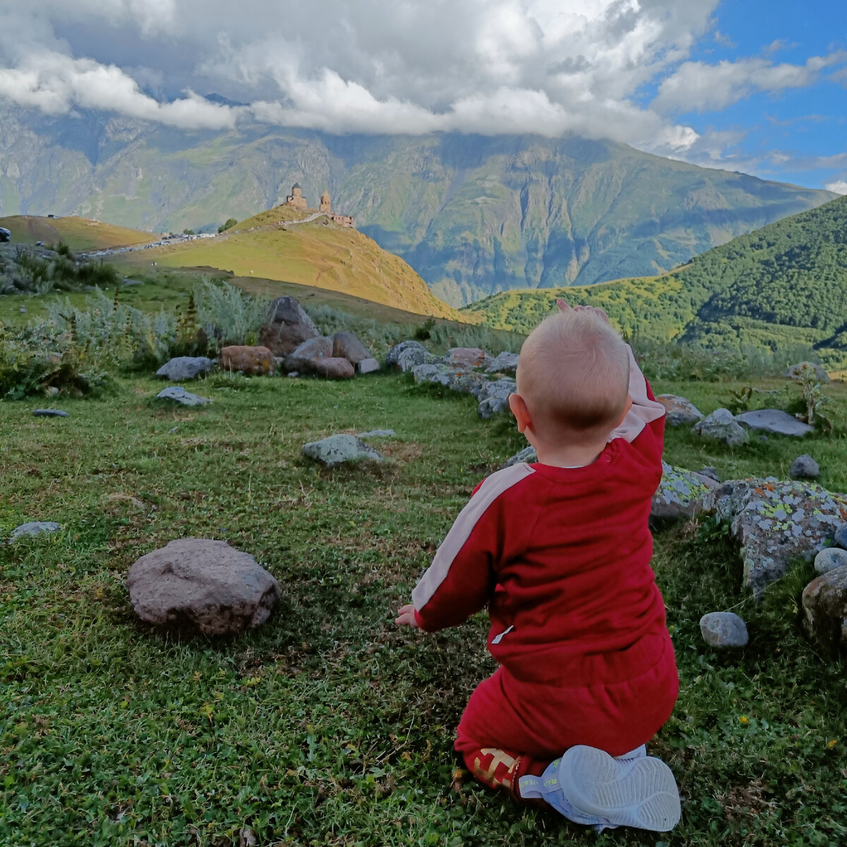
[(540, 775), (568, 747), (620, 756), (645, 744), (671, 717), (678, 690), (673, 648), (645, 673), (612, 684), (529, 683), (500, 667), (468, 700), (456, 750), (480, 782), (519, 796), (518, 780)]

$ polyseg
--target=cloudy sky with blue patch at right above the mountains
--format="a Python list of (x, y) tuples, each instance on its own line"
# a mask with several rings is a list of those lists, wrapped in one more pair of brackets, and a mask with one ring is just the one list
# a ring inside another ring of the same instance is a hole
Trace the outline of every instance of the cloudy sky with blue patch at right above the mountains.
[(3, 101), (611, 138), (847, 194), (847, 0), (0, 0)]

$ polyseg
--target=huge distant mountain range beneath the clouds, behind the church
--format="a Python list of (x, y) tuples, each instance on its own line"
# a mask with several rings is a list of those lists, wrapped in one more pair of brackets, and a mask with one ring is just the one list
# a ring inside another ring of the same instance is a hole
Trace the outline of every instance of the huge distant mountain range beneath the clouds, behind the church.
[(611, 141), (183, 131), (0, 107), (0, 213), (145, 230), (217, 227), (298, 182), (453, 304), (514, 287), (656, 274), (834, 197)]

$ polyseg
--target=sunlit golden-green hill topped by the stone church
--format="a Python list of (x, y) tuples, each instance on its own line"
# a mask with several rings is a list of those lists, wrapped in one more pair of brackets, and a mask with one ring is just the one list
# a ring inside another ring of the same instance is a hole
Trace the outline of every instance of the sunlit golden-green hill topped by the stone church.
[(214, 268), (236, 277), (339, 291), (435, 318), (461, 319), (401, 258), (325, 217), (274, 208), (214, 238), (149, 247), (112, 257), (132, 266)]

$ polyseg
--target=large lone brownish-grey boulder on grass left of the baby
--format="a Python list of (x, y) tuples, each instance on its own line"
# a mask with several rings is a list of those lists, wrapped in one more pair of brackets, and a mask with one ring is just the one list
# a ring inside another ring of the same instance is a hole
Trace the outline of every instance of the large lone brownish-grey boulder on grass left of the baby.
[(130, 601), (163, 629), (230, 635), (264, 623), (280, 597), (274, 577), (225, 541), (185, 538), (130, 567)]

